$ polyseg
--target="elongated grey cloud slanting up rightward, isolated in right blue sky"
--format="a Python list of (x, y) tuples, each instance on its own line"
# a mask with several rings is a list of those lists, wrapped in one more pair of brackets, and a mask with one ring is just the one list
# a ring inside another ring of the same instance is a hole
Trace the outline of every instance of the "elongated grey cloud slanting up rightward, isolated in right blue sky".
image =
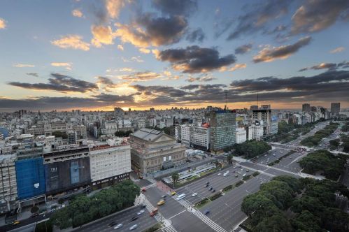
[(255, 57), (253, 61), (259, 62), (270, 62), (275, 59), (286, 59), (297, 52), (300, 48), (308, 45), (311, 42), (311, 36), (307, 36), (299, 39), (297, 43), (291, 45), (282, 45), (280, 47), (264, 48)]

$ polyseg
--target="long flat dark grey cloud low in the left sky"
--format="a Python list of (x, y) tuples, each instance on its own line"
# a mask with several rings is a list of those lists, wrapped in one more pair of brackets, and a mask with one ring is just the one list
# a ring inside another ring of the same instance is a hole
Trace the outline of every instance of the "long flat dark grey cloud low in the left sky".
[(52, 78), (48, 78), (48, 83), (24, 83), (24, 82), (8, 82), (8, 85), (21, 87), (24, 89), (36, 90), (52, 90), (56, 92), (93, 92), (98, 86), (92, 82), (71, 78), (68, 75), (59, 73), (51, 73)]

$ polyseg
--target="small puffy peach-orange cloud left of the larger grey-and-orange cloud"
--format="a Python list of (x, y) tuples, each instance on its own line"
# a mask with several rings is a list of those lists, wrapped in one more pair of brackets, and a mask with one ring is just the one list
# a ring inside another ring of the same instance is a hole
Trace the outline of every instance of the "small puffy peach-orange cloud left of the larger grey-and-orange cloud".
[(105, 45), (113, 44), (113, 38), (115, 37), (111, 27), (104, 26), (92, 26), (91, 32), (93, 38), (91, 40), (92, 45), (97, 48), (101, 48), (102, 43)]

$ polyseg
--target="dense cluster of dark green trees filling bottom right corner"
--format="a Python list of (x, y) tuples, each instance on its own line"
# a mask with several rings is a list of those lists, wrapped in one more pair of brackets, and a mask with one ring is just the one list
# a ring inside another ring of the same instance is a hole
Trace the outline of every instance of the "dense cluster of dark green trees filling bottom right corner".
[(273, 177), (257, 193), (245, 196), (241, 210), (246, 231), (348, 231), (349, 215), (336, 203), (335, 193), (349, 190), (332, 180)]

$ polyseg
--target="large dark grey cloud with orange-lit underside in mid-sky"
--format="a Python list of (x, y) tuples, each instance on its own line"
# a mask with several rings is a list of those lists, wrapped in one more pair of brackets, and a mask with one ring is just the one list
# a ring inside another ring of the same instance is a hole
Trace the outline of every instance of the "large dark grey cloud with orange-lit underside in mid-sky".
[(215, 48), (199, 46), (164, 50), (158, 53), (157, 59), (169, 61), (173, 69), (183, 73), (205, 73), (229, 66), (236, 61), (234, 55), (220, 57), (220, 53)]

